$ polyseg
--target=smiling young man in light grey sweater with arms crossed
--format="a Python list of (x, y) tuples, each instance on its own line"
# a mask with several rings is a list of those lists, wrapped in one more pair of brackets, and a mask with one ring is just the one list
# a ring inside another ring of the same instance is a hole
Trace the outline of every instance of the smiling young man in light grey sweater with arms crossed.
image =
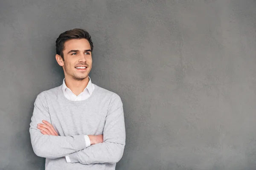
[(125, 147), (120, 97), (91, 82), (93, 42), (73, 29), (56, 40), (63, 84), (35, 100), (29, 133), (46, 170), (114, 170)]

